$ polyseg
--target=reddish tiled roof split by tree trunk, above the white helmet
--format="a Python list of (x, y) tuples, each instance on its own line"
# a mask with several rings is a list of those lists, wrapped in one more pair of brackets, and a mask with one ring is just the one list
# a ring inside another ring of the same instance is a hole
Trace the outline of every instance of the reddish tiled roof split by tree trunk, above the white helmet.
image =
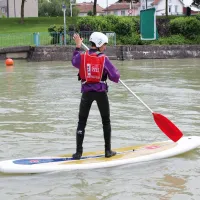
[[(89, 11), (93, 11), (94, 3), (91, 2), (83, 2), (77, 3), (76, 8), (79, 9), (80, 13), (88, 13)], [(97, 13), (104, 13), (103, 8), (97, 4)]]

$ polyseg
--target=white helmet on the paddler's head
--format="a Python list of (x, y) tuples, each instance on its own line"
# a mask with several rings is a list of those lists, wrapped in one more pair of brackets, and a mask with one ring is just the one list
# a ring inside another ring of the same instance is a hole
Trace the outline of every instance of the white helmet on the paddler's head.
[(90, 35), (90, 42), (94, 42), (96, 47), (101, 47), (103, 44), (108, 43), (108, 37), (101, 32), (94, 32)]

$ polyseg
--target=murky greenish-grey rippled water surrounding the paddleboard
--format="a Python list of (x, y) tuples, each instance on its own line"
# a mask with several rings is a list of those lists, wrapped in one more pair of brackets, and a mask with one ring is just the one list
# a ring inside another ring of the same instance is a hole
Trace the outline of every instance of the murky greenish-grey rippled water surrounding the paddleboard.
[[(121, 80), (185, 135), (200, 135), (199, 59), (115, 61)], [(151, 113), (122, 85), (109, 83), (114, 148), (167, 140)], [(80, 101), (70, 62), (0, 62), (0, 159), (60, 155), (75, 150)], [(84, 150), (104, 149), (94, 103)], [(110, 169), (0, 176), (0, 199), (198, 199), (200, 152)], [(38, 187), (38, 185), (40, 186)]]

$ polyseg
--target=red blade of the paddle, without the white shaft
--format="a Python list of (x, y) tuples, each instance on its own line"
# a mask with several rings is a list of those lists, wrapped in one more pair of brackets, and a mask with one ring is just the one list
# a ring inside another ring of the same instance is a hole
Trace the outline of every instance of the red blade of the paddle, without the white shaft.
[(160, 130), (165, 133), (171, 140), (177, 142), (183, 133), (173, 124), (169, 119), (159, 113), (152, 113), (154, 121), (160, 128)]

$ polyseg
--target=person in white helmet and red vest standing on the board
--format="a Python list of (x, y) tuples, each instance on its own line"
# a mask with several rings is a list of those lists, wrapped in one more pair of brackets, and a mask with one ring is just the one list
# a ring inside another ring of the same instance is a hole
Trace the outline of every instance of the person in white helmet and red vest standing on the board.
[(74, 34), (73, 39), (76, 43), (76, 49), (73, 53), (72, 65), (79, 69), (78, 77), (81, 81), (82, 97), (76, 130), (76, 153), (72, 157), (80, 159), (82, 156), (85, 127), (89, 111), (93, 101), (96, 101), (103, 124), (105, 157), (109, 158), (116, 155), (116, 152), (111, 150), (110, 106), (106, 80), (109, 78), (111, 81), (118, 83), (120, 74), (103, 53), (108, 43), (106, 35), (101, 32), (93, 32), (89, 38), (91, 48), (86, 52), (80, 51), (83, 39), (79, 34)]

